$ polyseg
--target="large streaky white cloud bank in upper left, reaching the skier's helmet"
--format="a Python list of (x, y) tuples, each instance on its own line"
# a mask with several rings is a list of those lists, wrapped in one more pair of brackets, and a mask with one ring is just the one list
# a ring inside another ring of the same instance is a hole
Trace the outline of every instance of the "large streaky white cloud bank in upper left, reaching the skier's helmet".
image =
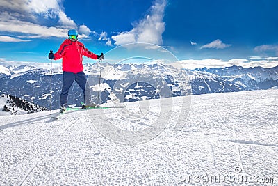
[[(49, 36), (65, 38), (68, 29), (77, 29), (77, 25), (68, 17), (61, 7), (63, 0), (2, 0), (0, 3), (0, 31), (9, 35), (19, 35), (25, 38), (47, 38)], [(38, 20), (51, 19), (57, 25), (45, 26)], [(79, 26), (80, 38), (86, 38), (91, 33), (84, 24)]]

